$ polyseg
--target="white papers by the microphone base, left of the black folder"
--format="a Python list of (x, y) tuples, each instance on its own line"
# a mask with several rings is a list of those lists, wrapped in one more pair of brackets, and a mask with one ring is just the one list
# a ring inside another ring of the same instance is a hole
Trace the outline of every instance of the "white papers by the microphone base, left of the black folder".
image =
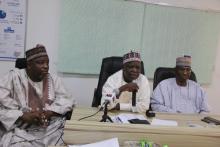
[(119, 115), (112, 116), (111, 119), (115, 123), (130, 123), (128, 120), (131, 120), (131, 119), (147, 120), (141, 114), (127, 114), (127, 113), (121, 113)]

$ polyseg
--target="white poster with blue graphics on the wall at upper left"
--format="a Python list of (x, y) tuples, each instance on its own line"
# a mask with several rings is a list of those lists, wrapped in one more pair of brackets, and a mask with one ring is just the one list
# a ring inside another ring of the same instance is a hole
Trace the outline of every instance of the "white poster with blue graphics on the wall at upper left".
[(0, 0), (0, 60), (24, 57), (27, 0)]

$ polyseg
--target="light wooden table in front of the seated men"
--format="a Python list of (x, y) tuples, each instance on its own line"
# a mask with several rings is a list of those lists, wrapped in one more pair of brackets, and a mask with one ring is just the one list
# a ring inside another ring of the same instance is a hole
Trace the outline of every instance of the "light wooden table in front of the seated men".
[[(201, 121), (204, 116), (208, 115), (156, 114), (158, 119), (177, 121), (177, 127), (99, 122), (103, 112), (78, 121), (79, 118), (91, 115), (96, 111), (97, 108), (74, 109), (71, 120), (66, 122), (64, 128), (65, 143), (86, 144), (118, 137), (120, 146), (123, 146), (125, 141), (147, 139), (160, 145), (167, 144), (169, 147), (220, 147), (220, 126), (209, 125)], [(119, 113), (121, 111), (108, 114), (113, 116)], [(220, 116), (209, 116), (220, 120)], [(202, 127), (189, 127), (189, 124), (192, 123)]]

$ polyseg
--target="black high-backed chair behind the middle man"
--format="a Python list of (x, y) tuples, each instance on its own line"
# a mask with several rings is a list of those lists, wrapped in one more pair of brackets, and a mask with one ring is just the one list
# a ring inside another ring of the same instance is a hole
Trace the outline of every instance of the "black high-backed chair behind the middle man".
[[(106, 57), (102, 59), (101, 70), (99, 74), (98, 86), (95, 88), (92, 107), (98, 107), (102, 98), (102, 87), (105, 84), (109, 76), (122, 69), (123, 58), (122, 57)], [(141, 73), (144, 74), (144, 64), (141, 62)]]

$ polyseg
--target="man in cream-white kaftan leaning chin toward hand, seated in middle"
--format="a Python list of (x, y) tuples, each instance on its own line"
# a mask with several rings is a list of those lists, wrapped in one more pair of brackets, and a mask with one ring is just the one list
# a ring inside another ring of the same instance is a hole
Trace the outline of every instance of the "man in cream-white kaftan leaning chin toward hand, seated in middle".
[[(113, 96), (110, 107), (117, 110), (145, 112), (150, 103), (148, 79), (140, 73), (139, 53), (130, 52), (123, 57), (123, 69), (110, 76), (102, 88), (102, 102), (109, 94)], [(132, 107), (132, 92), (136, 92), (136, 107)], [(115, 98), (114, 98), (115, 96)], [(107, 98), (108, 99), (108, 98)]]

